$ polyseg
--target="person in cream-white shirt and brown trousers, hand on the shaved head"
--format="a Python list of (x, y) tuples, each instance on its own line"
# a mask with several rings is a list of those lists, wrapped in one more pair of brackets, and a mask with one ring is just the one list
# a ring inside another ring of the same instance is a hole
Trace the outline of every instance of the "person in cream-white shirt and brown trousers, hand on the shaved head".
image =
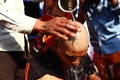
[(25, 34), (36, 31), (67, 40), (75, 37), (71, 30), (78, 31), (78, 24), (64, 17), (43, 22), (24, 14), (22, 0), (0, 0), (0, 80), (24, 79)]

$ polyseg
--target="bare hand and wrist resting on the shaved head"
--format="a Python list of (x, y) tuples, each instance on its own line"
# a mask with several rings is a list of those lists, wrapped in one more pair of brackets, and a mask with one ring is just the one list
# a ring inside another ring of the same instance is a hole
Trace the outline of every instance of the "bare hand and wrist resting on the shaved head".
[(75, 37), (75, 32), (79, 31), (79, 25), (65, 17), (56, 17), (47, 22), (37, 20), (34, 30), (41, 34), (52, 34), (63, 40)]

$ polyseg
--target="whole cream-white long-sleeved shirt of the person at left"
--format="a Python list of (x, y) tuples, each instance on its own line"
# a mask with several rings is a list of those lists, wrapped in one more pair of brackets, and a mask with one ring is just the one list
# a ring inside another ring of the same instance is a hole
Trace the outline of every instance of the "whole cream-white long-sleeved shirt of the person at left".
[(24, 14), (23, 0), (0, 0), (0, 51), (24, 51), (24, 34), (35, 22)]

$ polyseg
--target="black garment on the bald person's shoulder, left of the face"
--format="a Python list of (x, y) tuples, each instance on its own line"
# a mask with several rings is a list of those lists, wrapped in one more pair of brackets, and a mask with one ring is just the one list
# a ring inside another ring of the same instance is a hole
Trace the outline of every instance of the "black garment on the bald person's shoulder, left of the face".
[(26, 73), (27, 78), (25, 80), (35, 80), (45, 74), (55, 75), (60, 78), (64, 77), (61, 62), (51, 50), (47, 50), (40, 56), (30, 59), (28, 64), (30, 66), (29, 69), (26, 68), (28, 72)]

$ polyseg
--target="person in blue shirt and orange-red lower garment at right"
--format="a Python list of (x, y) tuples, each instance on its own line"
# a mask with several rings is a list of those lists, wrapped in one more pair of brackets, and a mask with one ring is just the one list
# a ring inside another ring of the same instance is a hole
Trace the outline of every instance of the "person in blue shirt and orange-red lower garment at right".
[[(82, 14), (78, 20), (87, 21), (93, 61), (101, 79), (111, 80), (109, 67), (120, 63), (120, 0), (80, 0), (80, 4)], [(119, 75), (120, 68), (116, 69)], [(114, 74), (119, 79), (120, 76)]]

